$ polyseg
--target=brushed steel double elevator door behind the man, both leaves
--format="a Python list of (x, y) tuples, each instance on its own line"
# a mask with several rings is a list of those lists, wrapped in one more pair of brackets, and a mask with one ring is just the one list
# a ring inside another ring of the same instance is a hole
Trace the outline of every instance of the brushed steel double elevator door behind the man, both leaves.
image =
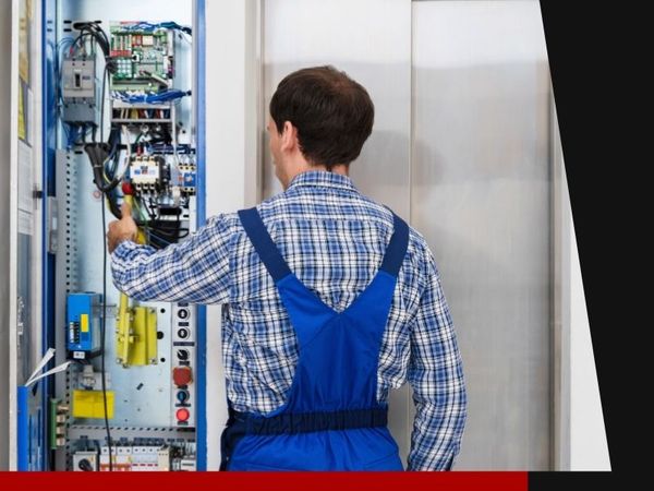
[[(469, 395), (456, 468), (548, 469), (550, 93), (538, 2), (263, 3), (265, 108), (286, 74), (327, 63), (375, 103), (352, 177), (434, 251)], [(263, 155), (267, 197), (281, 188), (267, 144)], [(403, 456), (412, 426), (404, 387), (390, 412)]]

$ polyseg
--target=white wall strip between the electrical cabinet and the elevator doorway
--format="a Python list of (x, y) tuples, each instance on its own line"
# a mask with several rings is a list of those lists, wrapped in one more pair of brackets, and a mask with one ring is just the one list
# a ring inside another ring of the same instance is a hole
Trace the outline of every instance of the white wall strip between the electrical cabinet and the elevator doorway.
[[(258, 59), (256, 0), (206, 2), (207, 217), (255, 201)], [(227, 421), (220, 307), (207, 309), (207, 468), (220, 465)]]

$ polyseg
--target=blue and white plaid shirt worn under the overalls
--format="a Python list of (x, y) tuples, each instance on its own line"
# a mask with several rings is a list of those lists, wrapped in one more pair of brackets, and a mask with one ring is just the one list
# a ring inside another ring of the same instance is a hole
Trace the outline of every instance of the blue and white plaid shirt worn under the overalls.
[[(340, 175), (308, 171), (258, 205), (291, 271), (325, 303), (344, 310), (377, 272), (392, 215)], [(235, 213), (210, 218), (187, 240), (156, 252), (122, 242), (111, 254), (116, 287), (136, 300), (222, 303), (222, 355), (234, 409), (284, 403), (298, 346), (275, 283)], [(444, 469), (459, 452), (467, 399), (461, 357), (434, 258), (410, 230), (378, 367), (379, 402), (405, 381), (416, 416), (409, 469)]]

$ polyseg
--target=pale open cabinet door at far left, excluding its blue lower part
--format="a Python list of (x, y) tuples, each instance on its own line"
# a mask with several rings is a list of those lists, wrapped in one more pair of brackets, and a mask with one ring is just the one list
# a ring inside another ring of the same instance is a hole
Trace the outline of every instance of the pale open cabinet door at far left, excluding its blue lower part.
[[(10, 467), (15, 465), (15, 391), (41, 352), (40, 200), (40, 4), (19, 0), (11, 8), (9, 405)], [(20, 105), (22, 101), (22, 105)], [(21, 115), (19, 117), (19, 113)]]

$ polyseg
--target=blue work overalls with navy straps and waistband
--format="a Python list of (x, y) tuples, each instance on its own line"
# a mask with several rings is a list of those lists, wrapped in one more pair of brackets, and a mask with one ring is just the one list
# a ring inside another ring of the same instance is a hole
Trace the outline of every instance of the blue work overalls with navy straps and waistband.
[(266, 416), (230, 407), (221, 470), (402, 470), (386, 427), (387, 405), (376, 394), (382, 337), (409, 227), (393, 214), (382, 267), (338, 313), (290, 271), (256, 208), (239, 217), (288, 311), (299, 359), (283, 406)]

